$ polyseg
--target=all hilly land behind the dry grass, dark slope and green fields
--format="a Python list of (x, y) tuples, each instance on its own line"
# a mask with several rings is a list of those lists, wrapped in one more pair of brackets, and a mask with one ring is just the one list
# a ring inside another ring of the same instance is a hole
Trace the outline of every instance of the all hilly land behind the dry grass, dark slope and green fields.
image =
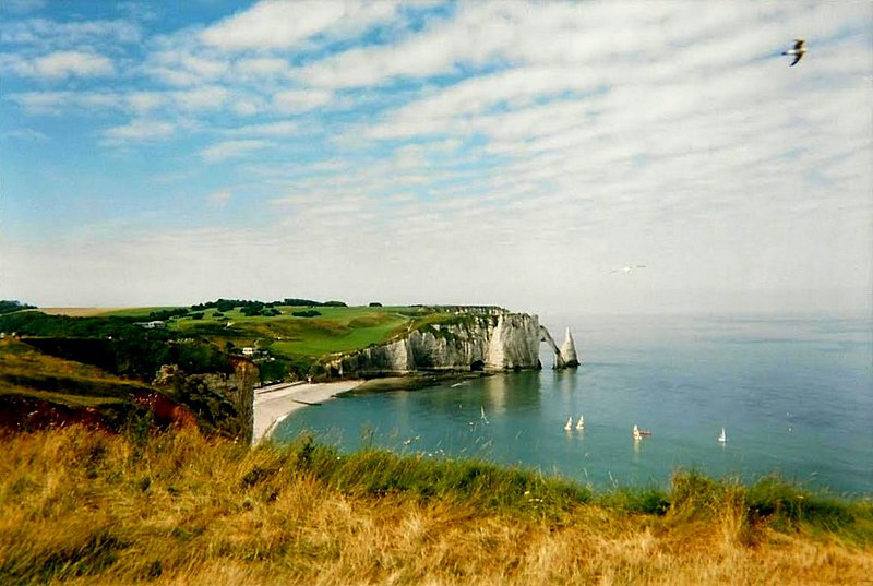
[(318, 376), (334, 352), (458, 319), (454, 308), (288, 301), (50, 313), (8, 302), (0, 314), (0, 424), (83, 422), (117, 431), (146, 418), (181, 419), (244, 439), (258, 379)]

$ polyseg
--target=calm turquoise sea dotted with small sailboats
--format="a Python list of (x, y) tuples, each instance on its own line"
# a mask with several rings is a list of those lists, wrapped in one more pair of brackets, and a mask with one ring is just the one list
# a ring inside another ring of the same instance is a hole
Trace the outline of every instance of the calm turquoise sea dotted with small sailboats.
[[(865, 319), (541, 316), (583, 367), (339, 398), (286, 419), (355, 450), (475, 456), (589, 482), (667, 485), (675, 468), (778, 471), (873, 493), (873, 325)], [(481, 418), (485, 409), (487, 422)], [(584, 431), (564, 431), (585, 416)], [(651, 430), (634, 442), (631, 428)], [(728, 442), (720, 444), (722, 426)]]

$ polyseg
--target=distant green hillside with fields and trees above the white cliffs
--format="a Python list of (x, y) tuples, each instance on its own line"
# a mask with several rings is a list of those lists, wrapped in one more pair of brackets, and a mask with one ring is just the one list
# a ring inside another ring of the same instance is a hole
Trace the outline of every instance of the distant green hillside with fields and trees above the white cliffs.
[[(246, 351), (253, 352), (248, 356), (258, 363), (261, 380), (272, 382), (303, 379), (332, 354), (363, 349), (411, 328), (432, 330), (433, 324), (459, 319), (455, 307), (345, 307), (339, 302), (289, 301), (295, 304), (220, 299), (191, 307), (106, 311), (48, 308), (43, 318), (36, 315), (39, 311), (0, 318), (0, 331), (55, 338), (139, 334), (160, 342), (205, 342), (226, 355), (242, 355)], [(150, 321), (159, 321), (162, 327), (145, 332), (142, 324)], [(154, 372), (155, 368), (144, 370)]]

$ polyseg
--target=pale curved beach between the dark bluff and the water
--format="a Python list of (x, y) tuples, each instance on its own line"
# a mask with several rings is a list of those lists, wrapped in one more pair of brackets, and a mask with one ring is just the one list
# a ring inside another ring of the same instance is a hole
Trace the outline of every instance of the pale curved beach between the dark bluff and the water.
[(363, 381), (335, 383), (284, 383), (258, 388), (254, 392), (254, 433), (252, 443), (268, 438), (276, 423), (307, 404), (323, 403), (334, 395), (351, 391)]

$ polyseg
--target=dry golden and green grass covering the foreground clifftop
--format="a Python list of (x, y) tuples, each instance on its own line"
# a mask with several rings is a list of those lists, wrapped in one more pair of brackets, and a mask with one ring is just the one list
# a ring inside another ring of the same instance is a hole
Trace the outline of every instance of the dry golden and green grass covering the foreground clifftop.
[(469, 461), (193, 430), (0, 438), (0, 583), (858, 584), (873, 509), (694, 474), (597, 494)]

